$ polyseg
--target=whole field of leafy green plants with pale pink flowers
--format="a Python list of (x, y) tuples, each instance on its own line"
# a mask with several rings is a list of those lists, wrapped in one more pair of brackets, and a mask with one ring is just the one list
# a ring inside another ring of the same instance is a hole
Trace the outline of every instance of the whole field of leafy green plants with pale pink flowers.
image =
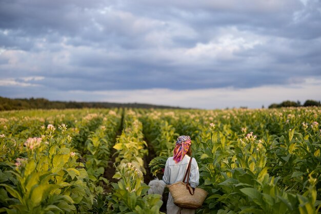
[(0, 211), (159, 213), (147, 195), (192, 139), (197, 213), (320, 213), (321, 108), (0, 112)]

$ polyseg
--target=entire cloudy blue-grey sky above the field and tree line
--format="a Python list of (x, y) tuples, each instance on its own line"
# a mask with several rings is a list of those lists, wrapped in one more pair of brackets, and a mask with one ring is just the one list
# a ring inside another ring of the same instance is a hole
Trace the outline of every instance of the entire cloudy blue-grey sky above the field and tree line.
[(0, 96), (200, 109), (321, 100), (321, 1), (1, 0)]

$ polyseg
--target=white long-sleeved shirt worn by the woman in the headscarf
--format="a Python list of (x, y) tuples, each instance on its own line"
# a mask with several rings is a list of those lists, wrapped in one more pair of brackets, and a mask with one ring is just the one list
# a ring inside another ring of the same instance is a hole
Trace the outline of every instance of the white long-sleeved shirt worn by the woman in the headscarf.
[[(183, 160), (175, 163), (173, 157), (169, 157), (165, 164), (163, 181), (167, 185), (176, 183), (178, 181), (183, 181), (190, 159), (191, 158), (188, 155), (185, 155)], [(185, 179), (185, 182), (186, 180), (187, 177)], [(191, 163), (189, 183), (191, 187), (196, 187), (199, 184), (198, 165), (195, 158), (192, 159)]]

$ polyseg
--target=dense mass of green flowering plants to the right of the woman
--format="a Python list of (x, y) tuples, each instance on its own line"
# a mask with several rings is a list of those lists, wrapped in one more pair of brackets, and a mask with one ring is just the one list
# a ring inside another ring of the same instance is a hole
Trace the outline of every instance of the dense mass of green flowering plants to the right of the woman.
[(209, 192), (198, 213), (317, 213), (320, 113), (177, 110), (162, 117), (194, 141), (200, 183)]

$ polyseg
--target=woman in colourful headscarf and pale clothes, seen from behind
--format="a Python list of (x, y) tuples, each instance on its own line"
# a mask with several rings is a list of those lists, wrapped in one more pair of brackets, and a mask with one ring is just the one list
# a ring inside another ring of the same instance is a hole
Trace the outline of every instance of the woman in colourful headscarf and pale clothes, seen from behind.
[[(192, 155), (190, 136), (179, 136), (173, 153), (174, 156), (167, 159), (164, 170), (163, 181), (167, 185), (183, 181), (184, 179), (188, 163), (191, 159), (190, 156)], [(191, 187), (196, 187), (199, 184), (198, 165), (194, 158), (191, 163), (189, 183)], [(170, 193), (168, 195), (166, 208), (168, 214), (195, 213), (194, 209), (185, 209), (176, 206)]]

